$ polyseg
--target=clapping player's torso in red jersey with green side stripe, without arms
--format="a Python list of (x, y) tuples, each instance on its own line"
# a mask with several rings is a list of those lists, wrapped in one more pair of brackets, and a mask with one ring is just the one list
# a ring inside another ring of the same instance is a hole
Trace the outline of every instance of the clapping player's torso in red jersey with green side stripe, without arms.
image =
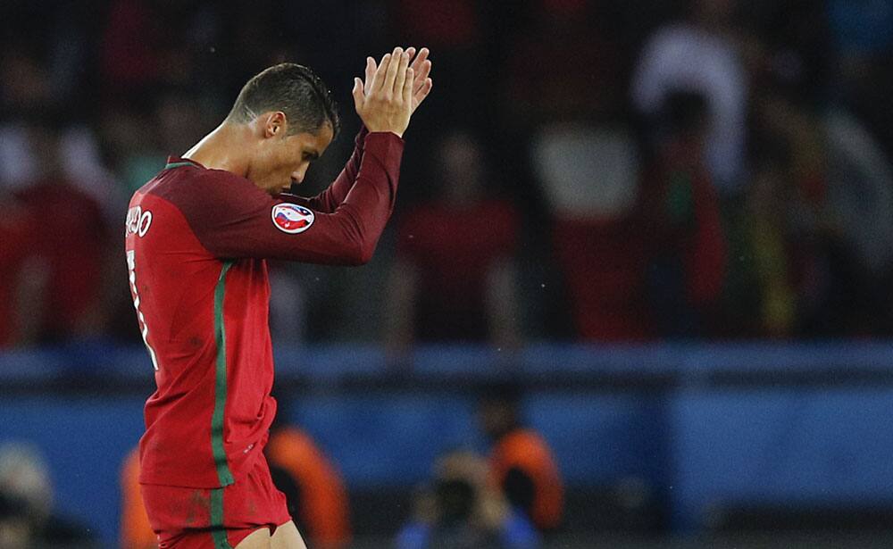
[(194, 212), (209, 183), (255, 192), (225, 172), (171, 162), (129, 204), (130, 291), (158, 387), (140, 441), (145, 484), (232, 484), (261, 457), (275, 414), (266, 264), (208, 251)]

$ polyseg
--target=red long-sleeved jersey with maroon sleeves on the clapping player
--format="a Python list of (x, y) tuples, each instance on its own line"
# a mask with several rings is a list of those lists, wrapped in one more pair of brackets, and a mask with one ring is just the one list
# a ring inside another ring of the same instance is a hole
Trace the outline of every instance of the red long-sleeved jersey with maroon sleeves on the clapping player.
[(367, 262), (393, 210), (403, 140), (361, 131), (321, 195), (273, 198), (171, 158), (130, 199), (126, 250), (157, 390), (140, 482), (216, 488), (263, 459), (276, 412), (264, 259)]

